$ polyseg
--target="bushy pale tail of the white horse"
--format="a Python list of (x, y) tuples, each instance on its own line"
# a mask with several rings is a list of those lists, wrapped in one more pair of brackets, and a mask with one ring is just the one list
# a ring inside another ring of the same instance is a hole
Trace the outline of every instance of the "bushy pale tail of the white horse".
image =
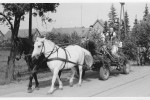
[(84, 64), (87, 67), (91, 68), (92, 65), (93, 65), (93, 57), (92, 57), (91, 53), (88, 50), (86, 50), (84, 48), (82, 48), (82, 50), (84, 52)]

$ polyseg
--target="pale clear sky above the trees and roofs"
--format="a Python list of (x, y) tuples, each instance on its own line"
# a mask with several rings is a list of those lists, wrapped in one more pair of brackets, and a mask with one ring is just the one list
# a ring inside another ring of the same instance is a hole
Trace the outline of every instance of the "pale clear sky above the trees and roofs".
[[(57, 0), (56, 0), (57, 1)], [(150, 2), (125, 2), (124, 10), (128, 12), (130, 26), (133, 26), (135, 16), (141, 20), (144, 15), (145, 5), (148, 5), (150, 11)], [(108, 21), (108, 13), (111, 5), (114, 5), (118, 17), (120, 16), (121, 5), (118, 2), (60, 2), (56, 13), (47, 13), (54, 21), (46, 25), (41, 22), (39, 17), (33, 17), (33, 28), (40, 31), (51, 31), (52, 28), (60, 27), (89, 27), (94, 24), (97, 19)], [(0, 6), (0, 12), (2, 11)], [(20, 29), (28, 29), (29, 15), (25, 16), (25, 21), (21, 21)], [(0, 25), (0, 30), (5, 34), (8, 31), (7, 26)]]

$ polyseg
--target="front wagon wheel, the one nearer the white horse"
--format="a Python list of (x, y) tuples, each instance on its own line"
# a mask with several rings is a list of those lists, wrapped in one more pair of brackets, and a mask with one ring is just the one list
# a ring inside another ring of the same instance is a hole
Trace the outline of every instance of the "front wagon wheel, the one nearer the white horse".
[(107, 67), (106, 65), (100, 67), (100, 70), (99, 70), (99, 79), (101, 79), (101, 80), (107, 80), (108, 77), (109, 77), (109, 75), (110, 75), (109, 67)]

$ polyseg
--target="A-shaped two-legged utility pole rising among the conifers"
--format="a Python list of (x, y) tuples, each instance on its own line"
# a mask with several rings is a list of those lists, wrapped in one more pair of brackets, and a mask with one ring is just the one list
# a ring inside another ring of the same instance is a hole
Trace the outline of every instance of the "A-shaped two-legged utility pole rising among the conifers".
[(121, 16), (123, 15), (123, 21), (124, 21), (124, 31), (125, 31), (125, 36), (127, 36), (127, 32), (126, 32), (126, 21), (125, 21), (125, 14), (124, 14), (124, 2), (120, 2), (121, 4), (121, 10), (120, 10), (120, 20), (119, 20), (119, 40), (121, 37), (121, 31), (120, 31), (120, 26), (121, 26)]

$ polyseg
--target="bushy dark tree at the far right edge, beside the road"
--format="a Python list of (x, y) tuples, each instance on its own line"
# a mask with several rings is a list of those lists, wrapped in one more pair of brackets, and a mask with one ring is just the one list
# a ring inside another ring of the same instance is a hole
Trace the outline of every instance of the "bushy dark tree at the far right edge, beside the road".
[[(138, 22), (135, 19), (134, 26), (132, 29), (131, 38), (133, 42), (136, 44), (137, 47), (137, 58), (139, 59), (141, 48), (144, 48), (144, 54), (148, 55), (149, 48), (150, 48), (150, 14), (148, 14), (145, 19)], [(148, 59), (147, 56), (144, 57)]]

